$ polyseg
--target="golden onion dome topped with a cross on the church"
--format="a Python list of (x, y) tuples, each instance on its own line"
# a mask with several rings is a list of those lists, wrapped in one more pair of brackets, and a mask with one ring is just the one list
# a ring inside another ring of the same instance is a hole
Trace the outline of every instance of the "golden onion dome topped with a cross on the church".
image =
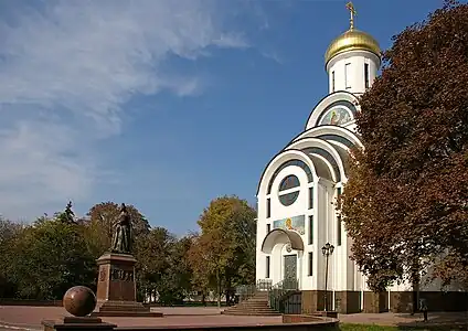
[(348, 2), (347, 8), (351, 13), (350, 29), (334, 39), (328, 46), (325, 53), (326, 66), (331, 58), (348, 51), (368, 51), (381, 58), (381, 49), (377, 41), (369, 33), (354, 29), (355, 10), (353, 4)]

